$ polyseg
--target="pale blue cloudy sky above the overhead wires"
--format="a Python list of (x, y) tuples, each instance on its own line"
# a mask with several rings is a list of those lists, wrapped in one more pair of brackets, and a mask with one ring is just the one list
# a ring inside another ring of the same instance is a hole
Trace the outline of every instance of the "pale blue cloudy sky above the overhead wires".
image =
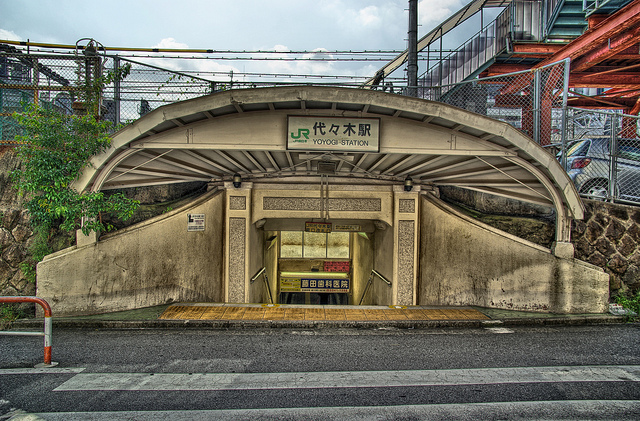
[[(421, 0), (419, 36), (468, 1)], [(0, 39), (75, 44), (94, 38), (108, 47), (283, 53), (403, 50), (407, 8), (407, 0), (0, 0)], [(371, 76), (384, 64), (191, 60), (174, 66)]]

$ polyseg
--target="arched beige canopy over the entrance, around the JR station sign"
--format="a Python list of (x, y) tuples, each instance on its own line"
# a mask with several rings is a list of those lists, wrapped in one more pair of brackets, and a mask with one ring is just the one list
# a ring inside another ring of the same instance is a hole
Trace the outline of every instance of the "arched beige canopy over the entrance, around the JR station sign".
[[(380, 119), (378, 153), (287, 150), (288, 116)], [(452, 185), (553, 206), (569, 241), (583, 206), (556, 159), (514, 127), (446, 104), (330, 87), (233, 90), (160, 107), (113, 136), (77, 190), (318, 174)]]

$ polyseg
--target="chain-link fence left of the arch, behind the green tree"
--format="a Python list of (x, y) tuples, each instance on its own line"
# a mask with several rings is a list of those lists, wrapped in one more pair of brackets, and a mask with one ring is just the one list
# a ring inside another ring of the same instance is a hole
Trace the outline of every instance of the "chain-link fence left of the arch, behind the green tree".
[(229, 83), (219, 84), (114, 56), (0, 52), (1, 143), (12, 144), (19, 133), (11, 118), (14, 112), (25, 111), (29, 104), (65, 114), (79, 112), (84, 107), (86, 86), (124, 66), (129, 67), (127, 77), (107, 85), (101, 98), (101, 117), (114, 123), (114, 127), (136, 120), (160, 105), (232, 87), (232, 76)]

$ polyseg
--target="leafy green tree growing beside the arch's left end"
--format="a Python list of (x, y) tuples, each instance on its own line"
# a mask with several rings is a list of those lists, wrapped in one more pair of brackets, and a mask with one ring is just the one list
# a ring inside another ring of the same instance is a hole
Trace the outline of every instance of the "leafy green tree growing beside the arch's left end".
[(90, 113), (65, 115), (31, 106), (14, 118), (24, 130), (16, 140), (22, 143), (20, 169), (13, 172), (16, 187), (28, 199), (25, 203), (36, 227), (101, 232), (113, 229), (102, 222), (102, 213), (129, 219), (139, 203), (121, 193), (105, 197), (102, 192), (77, 192), (71, 185), (92, 156), (111, 144), (109, 122)]

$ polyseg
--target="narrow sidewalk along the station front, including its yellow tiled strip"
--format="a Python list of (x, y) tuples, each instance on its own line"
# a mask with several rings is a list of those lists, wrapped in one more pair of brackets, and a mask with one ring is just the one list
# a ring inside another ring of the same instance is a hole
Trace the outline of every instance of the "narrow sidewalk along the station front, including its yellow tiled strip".
[[(178, 303), (91, 316), (55, 317), (58, 329), (171, 328), (478, 328), (525, 325), (624, 323), (624, 316), (549, 314), (482, 307), (302, 306)], [(43, 319), (22, 319), (12, 329), (42, 328)]]

